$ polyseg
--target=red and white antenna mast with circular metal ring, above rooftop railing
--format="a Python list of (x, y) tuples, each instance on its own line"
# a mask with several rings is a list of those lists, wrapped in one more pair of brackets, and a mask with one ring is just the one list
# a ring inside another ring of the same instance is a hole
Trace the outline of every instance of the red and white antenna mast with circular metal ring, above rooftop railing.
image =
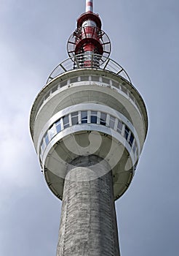
[(70, 57), (84, 55), (84, 67), (92, 67), (91, 56), (98, 55), (99, 61), (108, 58), (111, 53), (111, 42), (101, 30), (101, 20), (93, 12), (93, 1), (86, 0), (86, 12), (77, 19), (77, 28), (68, 39), (68, 55)]

